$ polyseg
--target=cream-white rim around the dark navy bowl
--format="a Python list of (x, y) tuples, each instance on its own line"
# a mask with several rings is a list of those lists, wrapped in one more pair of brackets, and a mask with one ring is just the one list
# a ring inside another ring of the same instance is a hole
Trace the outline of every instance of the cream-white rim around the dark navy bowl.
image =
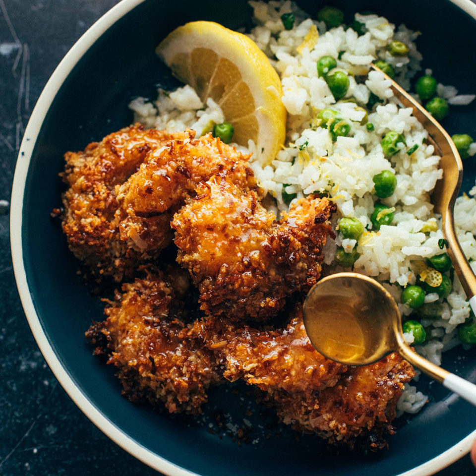
[[(13, 261), (13, 270), (18, 287), (23, 310), (33, 336), (45, 357), (48, 365), (60, 382), (63, 389), (81, 409), (81, 411), (109, 438), (117, 443), (122, 449), (133, 455), (151, 468), (160, 471), (168, 476), (200, 476), (196, 473), (175, 465), (167, 459), (148, 450), (129, 435), (124, 433), (107, 416), (105, 416), (75, 384), (66, 368), (55, 354), (46, 334), (41, 326), (39, 317), (33, 305), (33, 300), (28, 288), (26, 271), (23, 263), (22, 248), (22, 211), (25, 182), (30, 165), (31, 155), (35, 148), (38, 133), (43, 124), (45, 116), (56, 97), (64, 80), (82, 58), (93, 43), (116, 21), (127, 12), (145, 0), (121, 0), (113, 8), (101, 16), (72, 46), (65, 57), (61, 60), (46, 86), (44, 87), (23, 135), (20, 150), (18, 153), (13, 186), (11, 193), (10, 207), (10, 245)], [(476, 4), (472, 0), (450, 0), (459, 6), (466, 13), (476, 20)], [(473, 442), (476, 440), (476, 430), (470, 433), (459, 443), (444, 451), (431, 460), (401, 473), (398, 476), (430, 476), (451, 465), (467, 453), (469, 453)]]

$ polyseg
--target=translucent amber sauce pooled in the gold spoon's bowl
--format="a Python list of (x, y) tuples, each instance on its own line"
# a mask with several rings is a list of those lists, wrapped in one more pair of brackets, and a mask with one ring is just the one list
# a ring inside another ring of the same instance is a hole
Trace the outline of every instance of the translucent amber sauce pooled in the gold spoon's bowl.
[(318, 352), (344, 364), (363, 365), (388, 353), (392, 314), (384, 299), (354, 282), (324, 280), (316, 285), (304, 303), (304, 325)]

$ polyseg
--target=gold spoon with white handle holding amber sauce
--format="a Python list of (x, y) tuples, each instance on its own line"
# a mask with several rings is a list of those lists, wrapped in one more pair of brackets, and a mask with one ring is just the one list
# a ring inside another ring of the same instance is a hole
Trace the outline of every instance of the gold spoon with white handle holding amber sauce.
[(314, 285), (304, 301), (303, 319), (314, 348), (345, 365), (368, 365), (391, 352), (476, 405), (476, 385), (418, 355), (403, 336), (395, 299), (377, 281), (337, 273)]

